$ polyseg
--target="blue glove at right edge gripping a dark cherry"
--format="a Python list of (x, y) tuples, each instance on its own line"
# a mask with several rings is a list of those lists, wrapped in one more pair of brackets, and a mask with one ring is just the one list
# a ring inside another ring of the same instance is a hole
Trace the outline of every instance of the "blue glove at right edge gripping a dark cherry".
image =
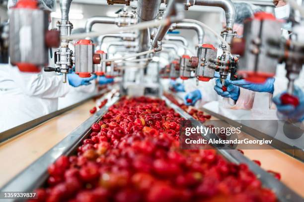
[(294, 95), (299, 98), (300, 104), (295, 107), (291, 104), (282, 104), (281, 95), (273, 98), (274, 103), (277, 105), (278, 112), (283, 115), (284, 119), (292, 119), (296, 121), (304, 121), (304, 92), (295, 87)]

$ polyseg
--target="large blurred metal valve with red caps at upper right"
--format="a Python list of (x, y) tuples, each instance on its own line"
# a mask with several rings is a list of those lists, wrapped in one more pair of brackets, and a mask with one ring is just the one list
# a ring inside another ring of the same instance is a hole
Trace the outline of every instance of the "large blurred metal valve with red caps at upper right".
[(263, 83), (275, 75), (278, 58), (271, 51), (279, 49), (270, 43), (281, 38), (282, 23), (271, 13), (259, 12), (245, 20), (243, 39), (233, 39), (231, 52), (239, 54), (239, 71), (244, 79)]

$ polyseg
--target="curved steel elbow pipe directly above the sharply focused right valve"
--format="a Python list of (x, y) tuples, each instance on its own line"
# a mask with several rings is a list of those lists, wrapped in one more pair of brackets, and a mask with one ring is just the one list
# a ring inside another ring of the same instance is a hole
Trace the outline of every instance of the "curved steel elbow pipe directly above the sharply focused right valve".
[(183, 19), (180, 22), (173, 23), (171, 28), (174, 29), (191, 29), (196, 31), (197, 38), (198, 38), (198, 43), (201, 45), (204, 42), (204, 37), (205, 37), (205, 31), (203, 27), (196, 23), (190, 23), (187, 21), (187, 19)]

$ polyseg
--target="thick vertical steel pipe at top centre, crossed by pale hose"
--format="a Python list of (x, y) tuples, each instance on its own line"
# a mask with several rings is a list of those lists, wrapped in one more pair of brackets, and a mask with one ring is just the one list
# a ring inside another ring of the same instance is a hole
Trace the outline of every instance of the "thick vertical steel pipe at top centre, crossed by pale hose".
[[(140, 22), (154, 20), (157, 16), (161, 0), (138, 0), (138, 18)], [(140, 31), (141, 51), (149, 49), (150, 34), (149, 30)]]

